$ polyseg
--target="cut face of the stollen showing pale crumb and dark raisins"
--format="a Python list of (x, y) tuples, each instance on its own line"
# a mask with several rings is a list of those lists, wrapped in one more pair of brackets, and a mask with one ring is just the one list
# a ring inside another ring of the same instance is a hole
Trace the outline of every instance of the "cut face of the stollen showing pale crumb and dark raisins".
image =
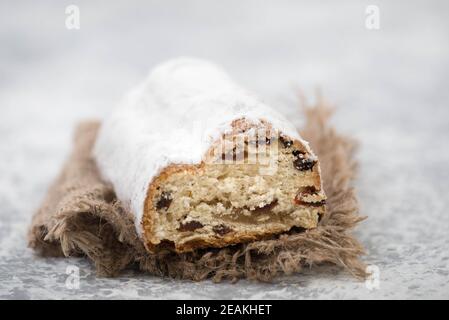
[(198, 165), (171, 165), (150, 185), (142, 219), (149, 251), (187, 252), (317, 226), (319, 162), (270, 127), (233, 125)]

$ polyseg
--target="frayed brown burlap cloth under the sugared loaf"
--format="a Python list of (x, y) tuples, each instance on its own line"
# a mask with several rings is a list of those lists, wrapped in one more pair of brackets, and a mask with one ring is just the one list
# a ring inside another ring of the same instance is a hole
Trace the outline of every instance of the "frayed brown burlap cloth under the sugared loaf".
[(33, 217), (29, 245), (45, 256), (87, 256), (102, 276), (137, 267), (182, 279), (269, 281), (304, 266), (330, 263), (363, 277), (365, 266), (359, 260), (363, 248), (350, 234), (363, 220), (351, 187), (355, 144), (329, 124), (329, 107), (304, 108), (304, 113), (301, 134), (320, 158), (328, 196), (328, 213), (314, 230), (222, 249), (150, 254), (137, 237), (132, 215), (122, 208), (112, 187), (100, 179), (92, 159), (99, 123), (83, 122), (76, 129), (71, 156)]

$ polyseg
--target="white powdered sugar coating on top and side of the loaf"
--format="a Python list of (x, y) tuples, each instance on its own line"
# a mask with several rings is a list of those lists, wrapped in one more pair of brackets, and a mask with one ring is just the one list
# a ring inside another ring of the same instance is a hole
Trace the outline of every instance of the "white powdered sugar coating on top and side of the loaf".
[(104, 121), (94, 155), (104, 179), (140, 221), (152, 179), (169, 164), (198, 164), (233, 120), (261, 120), (301, 140), (293, 124), (217, 65), (179, 58), (157, 66)]

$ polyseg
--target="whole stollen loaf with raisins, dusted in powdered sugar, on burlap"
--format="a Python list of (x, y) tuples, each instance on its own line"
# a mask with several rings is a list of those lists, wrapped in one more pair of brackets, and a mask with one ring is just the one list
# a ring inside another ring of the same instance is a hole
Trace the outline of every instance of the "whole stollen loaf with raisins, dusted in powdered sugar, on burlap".
[(307, 142), (207, 61), (157, 66), (104, 121), (94, 155), (150, 252), (311, 229), (325, 213)]

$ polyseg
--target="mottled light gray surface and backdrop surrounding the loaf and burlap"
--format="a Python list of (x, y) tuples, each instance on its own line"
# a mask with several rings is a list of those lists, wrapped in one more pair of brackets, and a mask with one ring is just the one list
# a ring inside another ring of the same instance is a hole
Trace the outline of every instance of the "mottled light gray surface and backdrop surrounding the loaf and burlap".
[[(65, 28), (76, 4), (81, 29)], [(365, 9), (380, 8), (380, 30)], [(449, 298), (447, 1), (0, 2), (1, 298)], [(274, 284), (125, 274), (26, 248), (31, 215), (70, 150), (74, 125), (106, 115), (156, 63), (212, 59), (300, 124), (296, 90), (321, 87), (357, 137), (368, 290), (319, 268)], [(81, 287), (65, 286), (68, 265)]]

